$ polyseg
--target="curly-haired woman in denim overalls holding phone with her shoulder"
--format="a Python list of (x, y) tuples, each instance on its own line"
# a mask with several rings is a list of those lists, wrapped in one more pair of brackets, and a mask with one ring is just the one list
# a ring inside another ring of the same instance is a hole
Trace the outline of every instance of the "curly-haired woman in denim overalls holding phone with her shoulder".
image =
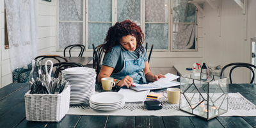
[(141, 28), (131, 20), (116, 22), (115, 26), (110, 27), (104, 41), (106, 57), (98, 82), (103, 77), (113, 77), (117, 86), (129, 88), (132, 83), (145, 84), (165, 77), (162, 74), (154, 76), (150, 72), (143, 42)]

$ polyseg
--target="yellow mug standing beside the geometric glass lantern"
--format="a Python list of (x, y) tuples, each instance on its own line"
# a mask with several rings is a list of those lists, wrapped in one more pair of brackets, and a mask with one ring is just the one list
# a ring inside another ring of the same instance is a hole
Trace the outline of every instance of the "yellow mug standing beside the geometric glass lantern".
[[(167, 93), (167, 97), (164, 95), (164, 93)], [(168, 102), (171, 104), (178, 104), (180, 101), (180, 89), (167, 88), (167, 90), (163, 92), (163, 96), (168, 98)]]

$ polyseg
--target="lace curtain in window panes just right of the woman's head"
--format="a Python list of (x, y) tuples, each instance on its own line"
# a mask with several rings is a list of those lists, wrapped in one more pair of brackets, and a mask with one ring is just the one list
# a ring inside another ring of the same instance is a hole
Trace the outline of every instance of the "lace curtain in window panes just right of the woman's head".
[[(145, 1), (145, 42), (154, 49), (168, 49), (168, 0)], [(161, 23), (163, 22), (163, 23)]]

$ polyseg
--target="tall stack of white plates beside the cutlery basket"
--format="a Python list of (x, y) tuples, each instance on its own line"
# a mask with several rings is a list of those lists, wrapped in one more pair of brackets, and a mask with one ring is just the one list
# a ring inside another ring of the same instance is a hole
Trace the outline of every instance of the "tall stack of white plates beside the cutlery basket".
[(96, 73), (93, 68), (74, 67), (62, 71), (62, 79), (70, 84), (70, 104), (81, 104), (95, 93)]

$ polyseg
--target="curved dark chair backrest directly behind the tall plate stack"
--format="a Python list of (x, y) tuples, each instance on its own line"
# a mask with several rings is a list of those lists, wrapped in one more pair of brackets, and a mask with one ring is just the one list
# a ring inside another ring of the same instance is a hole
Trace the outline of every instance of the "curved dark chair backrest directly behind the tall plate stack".
[[(60, 63), (54, 63), (53, 67), (56, 67), (56, 70), (54, 72), (54, 77), (58, 78), (62, 70), (68, 67), (83, 67), (83, 65), (76, 62), (60, 62)], [(47, 70), (49, 72), (50, 68), (48, 68)]]

